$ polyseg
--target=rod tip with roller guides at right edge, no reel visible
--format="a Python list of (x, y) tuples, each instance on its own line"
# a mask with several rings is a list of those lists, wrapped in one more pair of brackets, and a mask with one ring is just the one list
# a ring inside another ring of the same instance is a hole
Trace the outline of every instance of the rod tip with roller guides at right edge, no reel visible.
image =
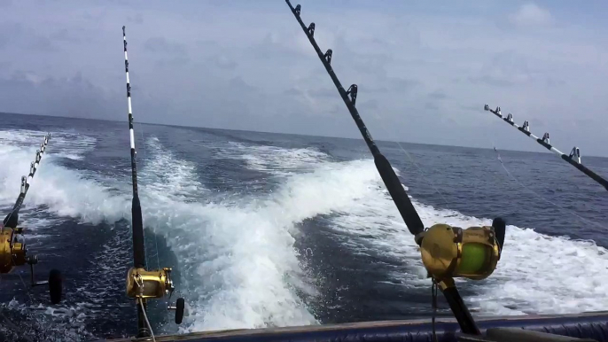
[(584, 165), (581, 164), (581, 149), (579, 149), (578, 147), (574, 146), (572, 151), (570, 152), (570, 154), (565, 155), (565, 153), (560, 152), (555, 147), (553, 147), (553, 145), (550, 144), (549, 133), (545, 133), (542, 136), (542, 139), (540, 139), (538, 136), (534, 136), (534, 134), (532, 134), (532, 132), (530, 132), (530, 123), (528, 122), (528, 120), (525, 120), (524, 125), (519, 127), (513, 121), (513, 114), (509, 113), (509, 114), (507, 114), (506, 117), (503, 117), (503, 114), (501, 113), (501, 107), (496, 107), (495, 110), (492, 110), (492, 109), (490, 109), (489, 105), (484, 105), (484, 110), (489, 111), (489, 112), (495, 114), (497, 117), (503, 119), (504, 122), (507, 122), (512, 127), (517, 128), (518, 131), (525, 134), (526, 136), (529, 136), (536, 143), (541, 144), (542, 147), (546, 148), (550, 152), (556, 153), (561, 159), (564, 159), (565, 161), (567, 161), (568, 164), (572, 165), (573, 167), (578, 168), (583, 174), (589, 176), (589, 178), (593, 179), (597, 183), (600, 183), (604, 187), (605, 190), (608, 190), (608, 181), (606, 181), (606, 179), (604, 177), (602, 177), (601, 175), (597, 175), (595, 172), (591, 171), (588, 167), (585, 167)]

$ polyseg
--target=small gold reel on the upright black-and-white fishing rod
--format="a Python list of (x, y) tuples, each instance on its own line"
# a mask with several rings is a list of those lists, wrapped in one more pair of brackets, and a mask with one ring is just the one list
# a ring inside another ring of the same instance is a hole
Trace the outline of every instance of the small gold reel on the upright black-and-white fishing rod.
[[(168, 302), (170, 303), (173, 291), (175, 291), (175, 287), (171, 279), (171, 268), (152, 271), (144, 268), (130, 268), (127, 273), (127, 296), (129, 298), (144, 301), (145, 299), (161, 299), (168, 294)], [(175, 301), (175, 306), (168, 304), (167, 309), (175, 311), (175, 323), (181, 324), (185, 300), (178, 298)]]

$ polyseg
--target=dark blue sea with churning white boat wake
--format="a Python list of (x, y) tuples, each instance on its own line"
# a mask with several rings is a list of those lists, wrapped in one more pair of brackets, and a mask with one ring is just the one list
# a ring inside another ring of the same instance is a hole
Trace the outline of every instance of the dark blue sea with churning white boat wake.
[[(126, 122), (0, 114), (0, 209), (51, 141), (21, 210), (36, 277), (62, 271), (64, 300), (0, 278), (6, 340), (136, 332)], [(523, 138), (523, 137), (522, 137)], [(534, 143), (531, 143), (534, 144)], [(608, 309), (608, 192), (557, 156), (378, 143), (425, 225), (509, 223), (493, 276), (459, 283), (475, 315)], [(136, 124), (149, 268), (174, 269), (179, 328), (156, 334), (429, 316), (431, 283), (361, 139)], [(608, 175), (608, 159), (583, 163)], [(449, 315), (440, 300), (440, 315)], [(25, 328), (25, 329), (24, 329)]]

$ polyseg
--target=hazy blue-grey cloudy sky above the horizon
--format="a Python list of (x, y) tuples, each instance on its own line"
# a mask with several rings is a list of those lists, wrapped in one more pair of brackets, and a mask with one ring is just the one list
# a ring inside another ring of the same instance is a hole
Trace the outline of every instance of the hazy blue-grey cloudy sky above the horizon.
[[(604, 0), (296, 0), (381, 140), (608, 156)], [(0, 112), (360, 137), (283, 0), (0, 0)]]

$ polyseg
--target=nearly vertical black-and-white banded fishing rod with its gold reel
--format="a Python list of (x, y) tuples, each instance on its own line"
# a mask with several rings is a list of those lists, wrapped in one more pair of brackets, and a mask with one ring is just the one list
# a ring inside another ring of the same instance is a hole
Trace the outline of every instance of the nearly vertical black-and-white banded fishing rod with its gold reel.
[[(145, 241), (144, 219), (142, 206), (137, 191), (137, 164), (135, 135), (133, 133), (133, 112), (131, 107), (131, 85), (129, 80), (129, 58), (127, 56), (126, 28), (122, 27), (122, 40), (125, 52), (125, 73), (127, 74), (127, 104), (129, 107), (129, 139), (131, 144), (131, 177), (133, 183), (133, 199), (131, 202), (131, 229), (133, 234), (133, 268), (127, 274), (127, 295), (136, 299), (137, 307), (137, 338), (152, 338), (154, 332), (146, 313), (147, 299), (161, 299), (168, 295), (171, 300), (175, 287), (171, 278), (171, 268), (146, 270), (145, 268)], [(158, 252), (157, 252), (158, 253)], [(175, 306), (167, 305), (168, 310), (175, 310), (175, 323), (183, 320), (185, 302), (178, 298)]]

